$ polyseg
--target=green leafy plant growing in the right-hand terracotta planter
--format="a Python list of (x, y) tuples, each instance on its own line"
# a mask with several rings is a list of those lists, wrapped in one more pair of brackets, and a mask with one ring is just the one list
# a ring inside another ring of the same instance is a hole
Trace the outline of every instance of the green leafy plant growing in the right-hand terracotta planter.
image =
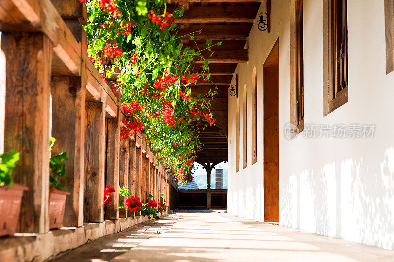
[[(52, 146), (55, 144), (55, 138), (50, 139), (50, 151), (52, 151)], [(62, 162), (68, 161), (67, 152), (54, 155), (49, 159), (49, 187), (57, 188), (60, 190), (67, 191), (68, 189), (64, 186), (59, 178), (64, 178), (66, 176), (65, 164)]]

